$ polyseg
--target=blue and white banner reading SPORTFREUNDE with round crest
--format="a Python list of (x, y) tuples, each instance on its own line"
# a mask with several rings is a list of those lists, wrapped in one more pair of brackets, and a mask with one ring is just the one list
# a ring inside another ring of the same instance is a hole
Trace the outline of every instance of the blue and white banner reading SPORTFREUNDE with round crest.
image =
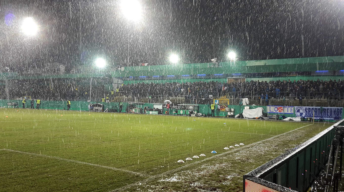
[(301, 118), (312, 117), (322, 120), (341, 120), (343, 108), (295, 106), (295, 115)]

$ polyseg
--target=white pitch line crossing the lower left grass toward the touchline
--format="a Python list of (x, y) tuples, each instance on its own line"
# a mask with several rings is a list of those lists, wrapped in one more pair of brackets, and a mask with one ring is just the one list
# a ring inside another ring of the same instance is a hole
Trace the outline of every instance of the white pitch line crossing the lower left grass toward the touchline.
[(100, 167), (100, 168), (105, 168), (105, 169), (111, 169), (111, 170), (115, 170), (115, 171), (123, 171), (123, 172), (129, 173), (129, 174), (135, 174), (135, 175), (138, 175), (138, 176), (141, 176), (141, 177), (149, 176), (147, 174), (143, 174), (143, 173), (139, 173), (139, 172), (134, 172), (134, 171), (129, 171), (129, 170), (126, 170), (126, 169), (119, 169), (119, 168), (115, 168), (115, 167), (98, 165), (98, 164), (94, 164), (94, 163), (77, 161), (77, 160), (73, 160), (73, 159), (65, 159), (65, 158), (61, 158), (61, 157), (55, 157), (55, 156), (50, 156), (50, 155), (41, 155), (41, 154), (29, 153), (29, 152), (24, 152), (24, 151), (17, 151), (17, 150), (12, 150), (12, 149), (1, 149), (1, 150), (11, 151), (11, 152), (20, 153), (20, 154), (26, 154), (26, 155), (34, 155), (34, 156), (39, 156), (39, 157), (58, 159), (58, 160), (61, 160), (61, 161), (67, 161), (67, 162), (73, 162), (73, 163), (80, 163), (80, 164), (84, 164), (84, 165)]

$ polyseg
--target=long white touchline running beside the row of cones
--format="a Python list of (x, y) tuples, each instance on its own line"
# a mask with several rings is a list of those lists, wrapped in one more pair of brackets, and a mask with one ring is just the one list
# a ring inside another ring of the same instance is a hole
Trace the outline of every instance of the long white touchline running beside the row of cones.
[(180, 170), (182, 170), (182, 169), (184, 169), (184, 168), (187, 168), (187, 167), (190, 167), (190, 166), (192, 166), (192, 165), (196, 165), (196, 164), (198, 164), (198, 163), (201, 163), (201, 162), (204, 162), (204, 161), (207, 161), (207, 160), (210, 160), (210, 159), (214, 159), (214, 158), (216, 158), (216, 157), (220, 157), (220, 156), (223, 156), (223, 155), (226, 155), (226, 154), (229, 154), (229, 153), (233, 153), (233, 152), (235, 152), (235, 151), (237, 151), (237, 150), (244, 149), (244, 148), (250, 147), (250, 146), (252, 146), (252, 145), (255, 145), (255, 144), (258, 144), (258, 143), (262, 143), (262, 142), (265, 142), (265, 141), (267, 141), (267, 140), (274, 139), (274, 138), (276, 138), (276, 137), (282, 136), (282, 135), (284, 135), (284, 134), (291, 133), (291, 132), (293, 132), (293, 131), (296, 131), (296, 130), (301, 129), (301, 128), (303, 128), (303, 127), (307, 127), (307, 126), (309, 126), (309, 125), (313, 125), (313, 124), (308, 124), (308, 125), (305, 125), (305, 126), (296, 128), (296, 129), (294, 129), (294, 130), (288, 131), (288, 132), (286, 132), (286, 133), (282, 133), (282, 134), (275, 135), (275, 136), (273, 136), (273, 137), (270, 137), (270, 138), (267, 138), (267, 139), (258, 141), (258, 142), (256, 142), (256, 143), (251, 143), (251, 144), (249, 144), (249, 145), (244, 145), (243, 147), (240, 147), (240, 148), (236, 148), (236, 149), (233, 149), (233, 150), (230, 150), (230, 151), (226, 151), (226, 152), (224, 152), (224, 153), (221, 153), (221, 154), (218, 154), (218, 155), (214, 155), (214, 156), (211, 156), (211, 157), (202, 159), (202, 160), (200, 160), (200, 161), (196, 161), (196, 162), (193, 162), (193, 163), (189, 163), (189, 164), (184, 165), (184, 166), (182, 166), (182, 167), (177, 167), (177, 168), (172, 169), (172, 170), (170, 170), (170, 171), (165, 171), (165, 172), (163, 172), (163, 173), (161, 173), (161, 174), (156, 174), (156, 175), (151, 176), (151, 177), (149, 177), (149, 178), (147, 178), (147, 179), (143, 179), (143, 180), (138, 181), (138, 182), (136, 182), (136, 183), (132, 183), (132, 184), (123, 186), (123, 187), (121, 187), (121, 188), (117, 188), (117, 189), (111, 190), (111, 191), (109, 191), (109, 192), (122, 191), (122, 190), (128, 189), (128, 188), (130, 188), (130, 187), (133, 187), (133, 186), (136, 186), (136, 185), (140, 185), (140, 184), (142, 184), (142, 183), (146, 183), (146, 182), (152, 181), (152, 180), (157, 179), (157, 178), (161, 178), (163, 175), (170, 174), (170, 173), (174, 173), (174, 172), (176, 172), (176, 171), (180, 171)]

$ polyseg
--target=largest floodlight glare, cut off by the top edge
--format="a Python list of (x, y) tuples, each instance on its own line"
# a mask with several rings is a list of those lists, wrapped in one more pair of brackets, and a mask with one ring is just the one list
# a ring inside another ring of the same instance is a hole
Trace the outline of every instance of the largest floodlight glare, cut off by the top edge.
[(141, 4), (138, 0), (122, 0), (120, 4), (123, 15), (131, 21), (140, 21), (142, 17)]

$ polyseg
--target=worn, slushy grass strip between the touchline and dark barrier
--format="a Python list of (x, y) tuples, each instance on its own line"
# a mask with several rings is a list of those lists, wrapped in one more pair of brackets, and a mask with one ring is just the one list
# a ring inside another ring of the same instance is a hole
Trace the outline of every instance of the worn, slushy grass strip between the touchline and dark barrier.
[(282, 135), (249, 148), (206, 161), (199, 165), (167, 174), (163, 178), (151, 181), (126, 191), (243, 191), (244, 174), (263, 165), (267, 161), (285, 153), (287, 149), (304, 142), (323, 131), (330, 124), (314, 124)]

